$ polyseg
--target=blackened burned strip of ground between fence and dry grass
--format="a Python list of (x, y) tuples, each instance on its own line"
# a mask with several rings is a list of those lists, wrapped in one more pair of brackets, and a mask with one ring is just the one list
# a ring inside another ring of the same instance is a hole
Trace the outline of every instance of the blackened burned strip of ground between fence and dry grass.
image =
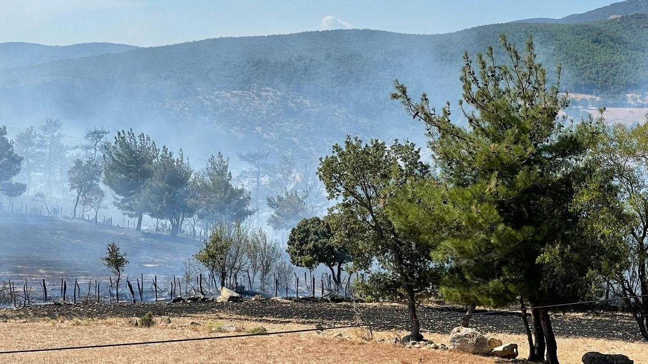
[[(75, 317), (80, 319), (106, 317), (141, 317), (146, 312), (156, 316), (185, 317), (191, 315), (213, 315), (228, 317), (245, 316), (260, 323), (302, 323), (323, 324), (323, 326), (340, 326), (358, 323), (358, 311), (362, 313), (364, 323), (384, 323), (407, 319), (407, 308), (401, 304), (353, 304), (349, 302), (329, 303), (312, 302), (308, 299), (279, 300), (263, 299), (245, 302), (183, 302), (183, 303), (145, 303), (121, 304), (65, 304), (28, 306), (26, 308), (6, 308), (0, 310), (0, 319), (38, 319), (50, 317)], [(478, 310), (485, 312), (484, 310)], [(447, 333), (459, 326), (459, 316), (463, 308), (453, 306), (422, 306), (419, 318), (428, 319), (421, 322), (424, 332)], [(434, 317), (438, 317), (434, 319)], [(636, 323), (628, 313), (590, 311), (590, 312), (556, 312), (552, 324), (557, 336), (588, 337), (595, 339), (619, 339), (623, 341), (642, 341)], [(507, 334), (524, 334), (520, 313), (497, 312), (487, 315), (476, 315), (471, 326), (481, 332), (500, 332)], [(380, 330), (406, 330), (406, 323), (380, 324)]]

